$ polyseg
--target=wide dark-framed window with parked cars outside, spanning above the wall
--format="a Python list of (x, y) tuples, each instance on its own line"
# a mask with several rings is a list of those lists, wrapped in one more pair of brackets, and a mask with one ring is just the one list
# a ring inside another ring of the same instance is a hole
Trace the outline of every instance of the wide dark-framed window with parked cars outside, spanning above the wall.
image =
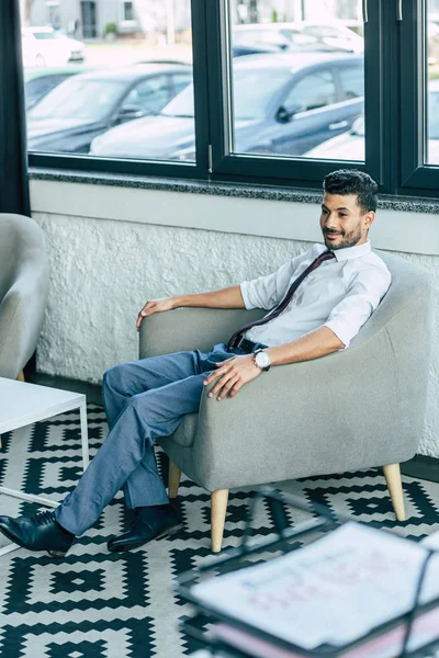
[[(438, 0), (122, 7), (142, 38), (114, 43), (105, 18), (105, 48), (82, 44), (93, 71), (30, 110), (31, 164), (313, 188), (341, 163), (382, 192), (438, 194)], [(78, 56), (66, 41), (23, 30), (26, 79)]]

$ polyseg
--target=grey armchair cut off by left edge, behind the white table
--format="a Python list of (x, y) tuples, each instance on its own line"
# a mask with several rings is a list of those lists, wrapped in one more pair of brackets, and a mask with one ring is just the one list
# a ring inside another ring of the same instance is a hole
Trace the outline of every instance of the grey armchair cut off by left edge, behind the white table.
[(0, 214), (0, 377), (22, 378), (43, 325), (48, 263), (30, 217)]

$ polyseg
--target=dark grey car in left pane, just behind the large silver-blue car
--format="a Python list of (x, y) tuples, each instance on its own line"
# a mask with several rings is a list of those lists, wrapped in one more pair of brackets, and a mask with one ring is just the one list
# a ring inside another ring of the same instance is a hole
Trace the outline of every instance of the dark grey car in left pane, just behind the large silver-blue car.
[(191, 81), (188, 65), (135, 65), (74, 76), (27, 112), (27, 147), (88, 152), (94, 137), (157, 114)]

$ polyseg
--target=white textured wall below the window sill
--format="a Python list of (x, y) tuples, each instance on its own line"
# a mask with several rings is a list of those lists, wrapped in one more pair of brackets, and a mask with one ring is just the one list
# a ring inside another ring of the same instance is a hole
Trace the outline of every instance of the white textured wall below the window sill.
[[(38, 370), (93, 383), (136, 358), (135, 320), (147, 299), (268, 273), (320, 239), (313, 204), (36, 180), (31, 196), (52, 272)], [(439, 217), (380, 211), (371, 240), (430, 272), (437, 310)], [(420, 452), (436, 457), (438, 339), (435, 321)]]

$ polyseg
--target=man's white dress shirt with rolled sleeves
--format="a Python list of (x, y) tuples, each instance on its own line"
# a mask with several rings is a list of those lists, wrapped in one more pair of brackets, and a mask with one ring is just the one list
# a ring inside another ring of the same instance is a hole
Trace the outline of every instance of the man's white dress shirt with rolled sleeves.
[[(283, 299), (291, 283), (324, 251), (324, 245), (314, 245), (273, 274), (241, 283), (246, 308), (271, 310)], [(324, 261), (306, 276), (277, 318), (252, 327), (245, 338), (271, 348), (318, 327), (328, 327), (348, 348), (387, 292), (391, 273), (372, 252), (369, 240), (334, 253), (335, 259)]]

